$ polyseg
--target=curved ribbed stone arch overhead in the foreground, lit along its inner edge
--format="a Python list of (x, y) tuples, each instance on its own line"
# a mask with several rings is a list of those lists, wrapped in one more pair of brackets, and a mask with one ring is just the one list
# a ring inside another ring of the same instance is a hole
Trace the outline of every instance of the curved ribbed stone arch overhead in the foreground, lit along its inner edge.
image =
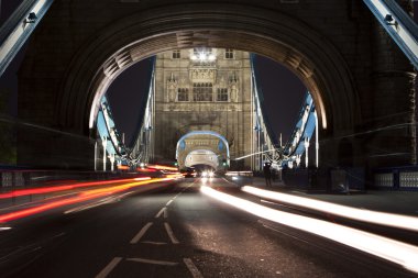
[(112, 22), (69, 65), (58, 119), (88, 134), (97, 112), (90, 108), (124, 69), (158, 52), (194, 46), (248, 51), (282, 63), (310, 90), (327, 133), (359, 122), (352, 75), (332, 43), (285, 13), (226, 3), (172, 4)]

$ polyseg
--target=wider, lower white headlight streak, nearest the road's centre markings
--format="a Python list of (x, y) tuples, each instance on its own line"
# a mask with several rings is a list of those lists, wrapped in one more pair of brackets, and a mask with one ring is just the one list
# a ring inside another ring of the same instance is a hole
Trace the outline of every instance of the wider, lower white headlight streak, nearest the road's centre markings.
[(418, 247), (414, 245), (322, 220), (277, 211), (248, 200), (219, 192), (207, 186), (200, 187), (200, 190), (209, 197), (260, 218), (327, 237), (391, 260), (411, 271), (418, 273)]

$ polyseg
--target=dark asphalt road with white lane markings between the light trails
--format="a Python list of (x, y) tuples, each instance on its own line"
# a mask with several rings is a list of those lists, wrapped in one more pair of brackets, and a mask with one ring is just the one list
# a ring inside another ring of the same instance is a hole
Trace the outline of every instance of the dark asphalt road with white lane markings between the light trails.
[[(223, 179), (209, 184), (260, 202)], [(0, 277), (415, 277), (213, 200), (200, 185), (184, 179), (89, 209), (75, 204), (14, 221), (0, 231)]]

